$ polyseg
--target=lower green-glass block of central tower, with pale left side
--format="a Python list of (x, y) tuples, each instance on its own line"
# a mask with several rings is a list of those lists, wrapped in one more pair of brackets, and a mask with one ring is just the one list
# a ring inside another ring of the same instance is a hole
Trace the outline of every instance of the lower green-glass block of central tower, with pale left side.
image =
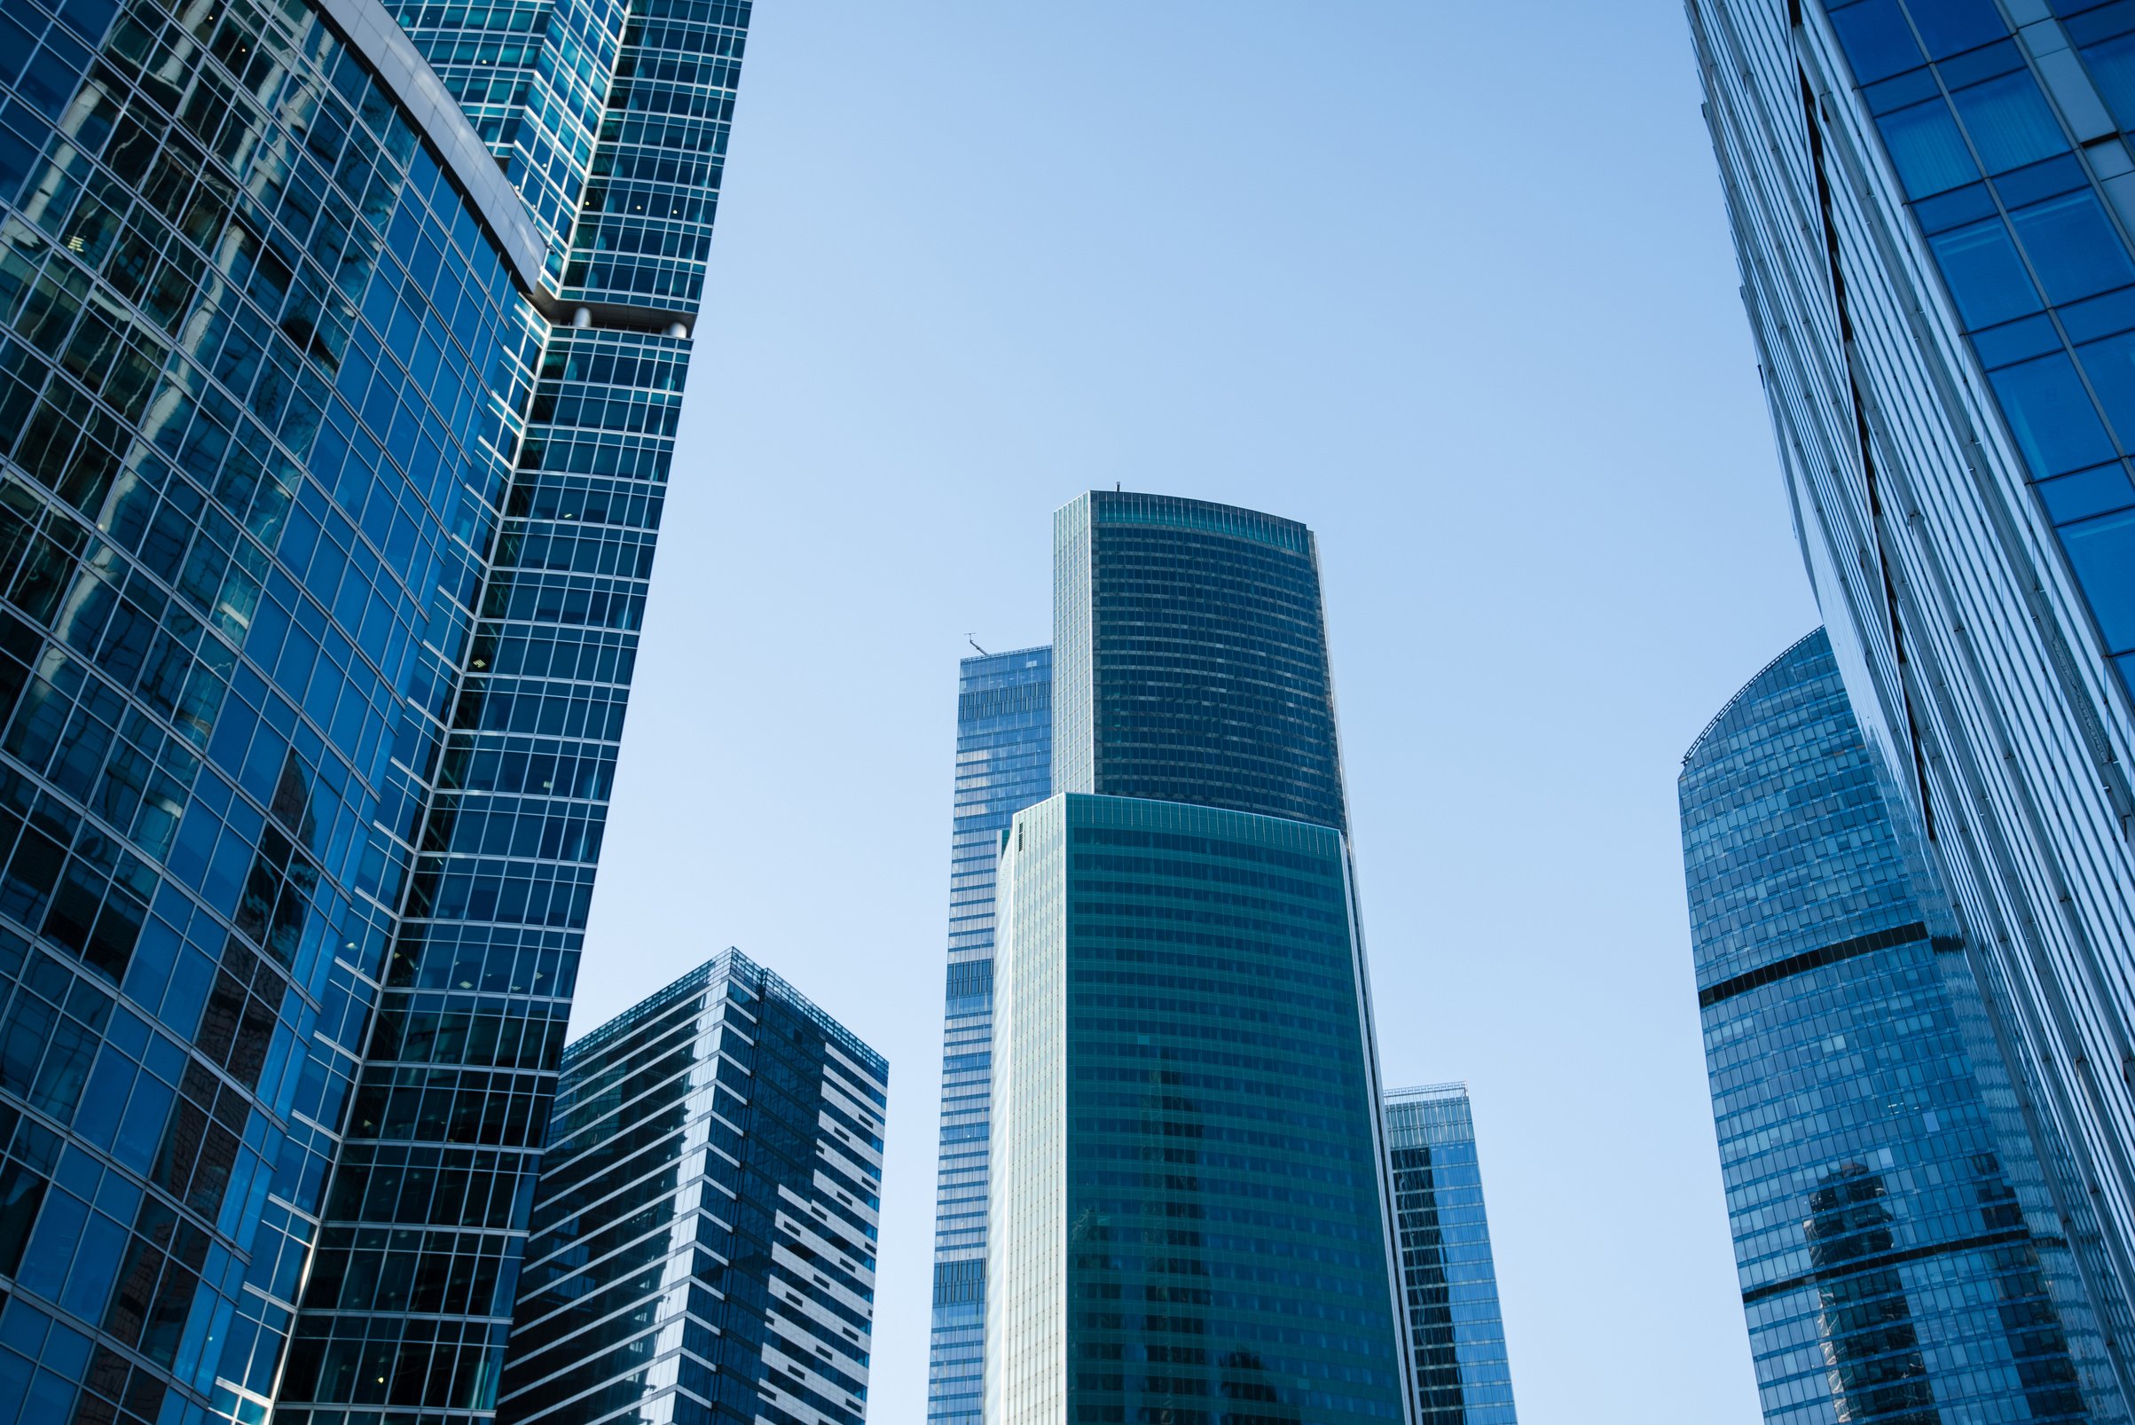
[(1407, 1419), (1341, 832), (1068, 794), (1001, 864), (986, 1419)]

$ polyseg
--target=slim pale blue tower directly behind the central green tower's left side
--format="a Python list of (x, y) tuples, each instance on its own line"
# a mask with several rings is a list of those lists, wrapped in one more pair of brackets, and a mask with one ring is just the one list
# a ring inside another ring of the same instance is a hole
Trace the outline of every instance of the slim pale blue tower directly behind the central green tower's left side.
[(978, 1425), (986, 1325), (986, 1096), (993, 1092), (993, 870), (1008, 819), (1053, 783), (1053, 649), (963, 659), (948, 868), (942, 1160), (935, 1169), (927, 1419)]

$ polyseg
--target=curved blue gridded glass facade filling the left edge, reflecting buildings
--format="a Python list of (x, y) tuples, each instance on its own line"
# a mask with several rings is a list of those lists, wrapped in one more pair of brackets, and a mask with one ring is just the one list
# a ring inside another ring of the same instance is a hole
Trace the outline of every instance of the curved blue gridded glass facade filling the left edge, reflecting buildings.
[[(301, 6), (6, 23), (0, 1414), (256, 1423), (325, 1372), (476, 1414), (463, 1318), (515, 1259), (483, 1165), (425, 1184), (474, 1205), (423, 1269), (410, 1233), (367, 1263), (406, 1331), (288, 1344), (540, 326)], [(517, 1069), (525, 1028), (476, 1032)], [(393, 1107), (508, 1139), (542, 1092), (495, 1077)]]

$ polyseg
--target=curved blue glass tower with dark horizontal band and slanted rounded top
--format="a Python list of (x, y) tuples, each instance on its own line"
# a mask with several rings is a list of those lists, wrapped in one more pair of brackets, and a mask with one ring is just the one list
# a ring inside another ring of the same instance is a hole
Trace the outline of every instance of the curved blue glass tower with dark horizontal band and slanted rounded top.
[[(1900, 768), (1902, 774), (1902, 768)], [(1682, 764), (1682, 862), (1764, 1419), (2126, 1421), (1973, 958), (1830, 640)]]

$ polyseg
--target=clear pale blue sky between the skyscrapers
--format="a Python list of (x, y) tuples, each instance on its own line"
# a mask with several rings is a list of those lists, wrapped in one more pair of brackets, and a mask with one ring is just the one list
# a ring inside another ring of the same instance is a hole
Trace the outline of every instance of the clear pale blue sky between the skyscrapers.
[(924, 1419), (956, 657), (1123, 482), (1319, 533), (1390, 1084), (1524, 1425), (1753, 1425), (1680, 755), (1817, 623), (1672, 0), (762, 0), (576, 1028), (724, 945), (890, 1060)]

